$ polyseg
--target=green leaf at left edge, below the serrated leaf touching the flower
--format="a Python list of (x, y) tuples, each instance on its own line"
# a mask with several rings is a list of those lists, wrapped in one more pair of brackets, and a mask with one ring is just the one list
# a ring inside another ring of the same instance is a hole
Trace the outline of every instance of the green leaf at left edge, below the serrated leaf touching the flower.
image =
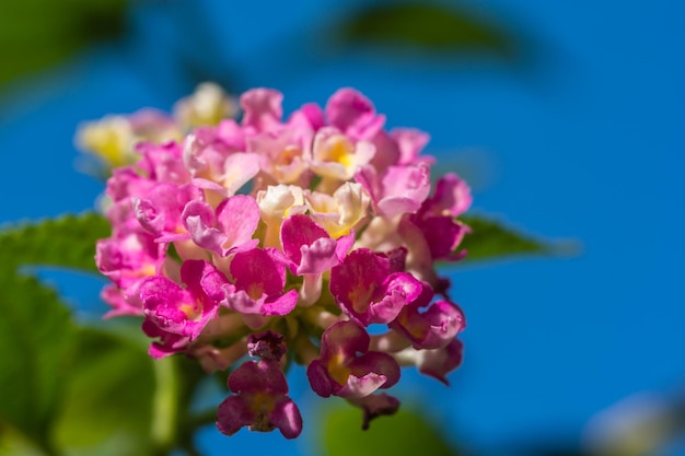
[(43, 448), (73, 337), (69, 311), (32, 277), (0, 273), (0, 421)]

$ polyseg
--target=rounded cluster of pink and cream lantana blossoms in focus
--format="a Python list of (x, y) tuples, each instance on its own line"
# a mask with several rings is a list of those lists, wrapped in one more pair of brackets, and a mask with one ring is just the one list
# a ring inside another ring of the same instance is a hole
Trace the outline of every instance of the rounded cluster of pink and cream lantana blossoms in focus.
[(113, 233), (97, 244), (108, 316), (140, 315), (151, 356), (234, 369), (217, 418), (228, 435), (300, 434), (293, 362), (368, 426), (397, 410), (381, 390), (400, 366), (446, 384), (462, 359), (464, 315), (436, 262), (464, 256), (466, 184), (449, 174), (431, 191), (428, 136), (386, 131), (355, 90), (287, 119), (281, 100), (251, 90), (240, 122), (138, 143), (107, 183)]

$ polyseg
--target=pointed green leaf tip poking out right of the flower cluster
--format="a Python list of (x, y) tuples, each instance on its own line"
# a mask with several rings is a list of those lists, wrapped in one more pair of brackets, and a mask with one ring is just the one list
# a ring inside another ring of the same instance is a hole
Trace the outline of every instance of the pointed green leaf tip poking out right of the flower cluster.
[(461, 262), (518, 255), (568, 255), (573, 250), (571, 245), (537, 241), (489, 218), (464, 215), (460, 220), (472, 229), (458, 246), (468, 252)]

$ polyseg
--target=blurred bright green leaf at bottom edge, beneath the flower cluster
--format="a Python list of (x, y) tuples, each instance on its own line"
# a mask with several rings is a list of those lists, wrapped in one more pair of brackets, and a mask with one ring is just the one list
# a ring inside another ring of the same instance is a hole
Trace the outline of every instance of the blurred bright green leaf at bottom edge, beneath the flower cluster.
[(323, 418), (322, 449), (326, 456), (455, 456), (458, 452), (418, 412), (399, 409), (361, 430), (361, 411), (345, 406)]

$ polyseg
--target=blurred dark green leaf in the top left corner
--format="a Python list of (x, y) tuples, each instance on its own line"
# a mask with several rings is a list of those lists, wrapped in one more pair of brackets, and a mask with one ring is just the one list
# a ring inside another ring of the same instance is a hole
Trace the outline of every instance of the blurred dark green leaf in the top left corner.
[(2, 0), (0, 86), (59, 63), (95, 40), (115, 38), (128, 0)]

